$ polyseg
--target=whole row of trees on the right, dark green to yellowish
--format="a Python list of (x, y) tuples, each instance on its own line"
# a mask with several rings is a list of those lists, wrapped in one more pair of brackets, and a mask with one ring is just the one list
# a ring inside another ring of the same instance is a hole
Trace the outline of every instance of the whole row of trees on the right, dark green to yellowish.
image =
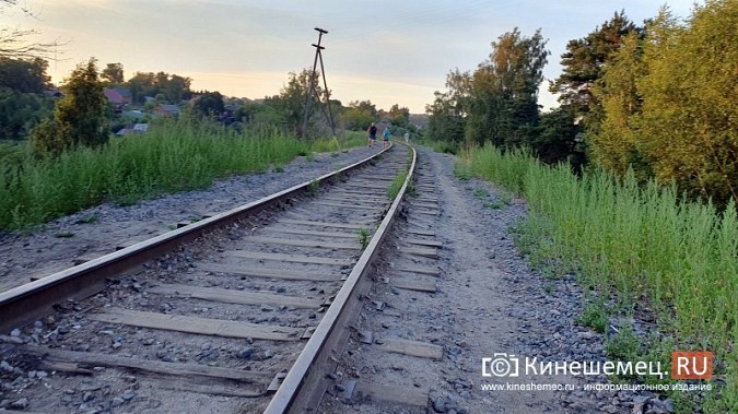
[(450, 71), (426, 106), (429, 135), (457, 145), (529, 147), (547, 163), (675, 184), (692, 198), (738, 201), (738, 0), (706, 0), (681, 21), (663, 8), (639, 25), (624, 11), (570, 40), (550, 82), (537, 31), (492, 43), (475, 71)]

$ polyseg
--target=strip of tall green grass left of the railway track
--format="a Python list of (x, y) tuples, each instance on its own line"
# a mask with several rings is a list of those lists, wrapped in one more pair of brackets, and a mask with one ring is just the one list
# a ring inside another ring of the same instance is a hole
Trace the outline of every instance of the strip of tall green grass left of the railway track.
[(26, 228), (104, 201), (131, 204), (206, 188), (218, 178), (279, 168), (298, 155), (312, 156), (314, 150), (337, 152), (358, 141), (343, 135), (306, 142), (278, 130), (239, 133), (173, 121), (54, 159), (34, 159), (26, 151), (17, 165), (0, 169), (0, 229)]

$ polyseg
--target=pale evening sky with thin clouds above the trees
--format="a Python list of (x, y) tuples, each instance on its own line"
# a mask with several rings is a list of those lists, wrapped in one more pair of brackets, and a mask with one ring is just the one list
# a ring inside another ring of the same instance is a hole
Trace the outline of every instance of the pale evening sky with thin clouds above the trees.
[[(446, 74), (473, 71), (490, 44), (518, 27), (548, 39), (543, 75), (561, 72), (571, 39), (585, 37), (624, 10), (636, 24), (661, 5), (689, 16), (693, 0), (17, 0), (36, 17), (4, 8), (0, 24), (33, 28), (34, 39), (65, 44), (49, 63), (55, 83), (91, 57), (137, 71), (192, 79), (192, 88), (226, 96), (279, 94), (289, 72), (312, 68), (321, 27), (331, 98), (371, 100), (422, 114)], [(544, 108), (555, 96), (539, 92)]]

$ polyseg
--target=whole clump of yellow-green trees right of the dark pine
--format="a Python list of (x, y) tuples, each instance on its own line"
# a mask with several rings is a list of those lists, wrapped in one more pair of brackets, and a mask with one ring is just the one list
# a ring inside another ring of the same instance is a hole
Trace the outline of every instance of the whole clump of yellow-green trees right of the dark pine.
[(738, 201), (738, 0), (708, 0), (687, 23), (668, 9), (625, 38), (594, 90), (593, 153), (609, 169)]

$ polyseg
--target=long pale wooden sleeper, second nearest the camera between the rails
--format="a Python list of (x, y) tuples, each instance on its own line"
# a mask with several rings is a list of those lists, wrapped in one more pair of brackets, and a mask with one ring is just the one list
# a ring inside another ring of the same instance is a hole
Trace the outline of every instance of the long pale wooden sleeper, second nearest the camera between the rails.
[(300, 335), (305, 331), (304, 329), (300, 328), (144, 312), (139, 310), (117, 308), (107, 309), (102, 314), (91, 314), (89, 315), (89, 318), (98, 320), (101, 322), (161, 329), (165, 331), (177, 331), (224, 338), (251, 338), (255, 340), (271, 341), (300, 341)]

